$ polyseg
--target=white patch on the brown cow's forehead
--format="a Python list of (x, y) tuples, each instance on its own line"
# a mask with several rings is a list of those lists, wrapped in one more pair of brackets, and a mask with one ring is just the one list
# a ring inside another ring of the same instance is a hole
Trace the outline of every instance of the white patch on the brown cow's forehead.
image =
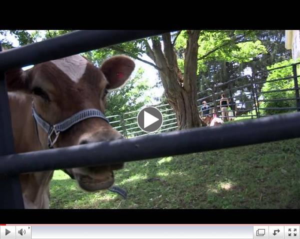
[(81, 55), (71, 55), (61, 59), (51, 60), (61, 71), (63, 71), (72, 81), (79, 82), (85, 72), (88, 61)]

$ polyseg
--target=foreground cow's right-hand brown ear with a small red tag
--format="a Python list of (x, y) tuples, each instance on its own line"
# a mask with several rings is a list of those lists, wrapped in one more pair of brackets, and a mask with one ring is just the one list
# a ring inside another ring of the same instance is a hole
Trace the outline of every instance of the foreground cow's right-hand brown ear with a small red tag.
[(115, 89), (124, 85), (134, 67), (133, 60), (125, 55), (113, 56), (105, 60), (100, 69), (108, 80), (107, 89)]

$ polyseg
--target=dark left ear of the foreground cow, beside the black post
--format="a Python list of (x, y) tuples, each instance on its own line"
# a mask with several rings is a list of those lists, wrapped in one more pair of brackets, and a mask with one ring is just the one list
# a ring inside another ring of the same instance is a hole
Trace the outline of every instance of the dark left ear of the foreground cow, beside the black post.
[(29, 88), (29, 70), (22, 70), (21, 68), (9, 69), (5, 71), (5, 80), (8, 91), (22, 91), (31, 93)]

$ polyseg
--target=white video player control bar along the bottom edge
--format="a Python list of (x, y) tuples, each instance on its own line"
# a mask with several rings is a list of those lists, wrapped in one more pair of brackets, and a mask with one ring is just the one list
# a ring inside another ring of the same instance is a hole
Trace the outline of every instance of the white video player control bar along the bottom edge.
[[(256, 239), (299, 238), (299, 225), (199, 225), (199, 224), (135, 224), (135, 225), (18, 225), (0, 226), (0, 239)], [(30, 230), (28, 229), (30, 227)], [(261, 228), (260, 228), (261, 227)], [(269, 230), (272, 229), (272, 230)], [(286, 233), (284, 229), (286, 228)], [(296, 228), (296, 229), (294, 229)], [(288, 229), (291, 231), (288, 232)], [(7, 230), (14, 233), (7, 233)], [(275, 232), (273, 232), (275, 230)], [(6, 235), (5, 235), (6, 231)], [(275, 235), (272, 235), (275, 233)], [(29, 234), (30, 233), (30, 234)], [(15, 236), (14, 236), (15, 235)], [(286, 235), (286, 236), (285, 236)], [(294, 236), (296, 235), (296, 236)]]

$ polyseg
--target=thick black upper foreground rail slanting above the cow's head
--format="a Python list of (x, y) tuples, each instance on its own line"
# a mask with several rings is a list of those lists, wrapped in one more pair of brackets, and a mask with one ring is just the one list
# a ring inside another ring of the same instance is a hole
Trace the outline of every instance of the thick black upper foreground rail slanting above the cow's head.
[(172, 30), (75, 30), (0, 52), (0, 70), (23, 67)]

